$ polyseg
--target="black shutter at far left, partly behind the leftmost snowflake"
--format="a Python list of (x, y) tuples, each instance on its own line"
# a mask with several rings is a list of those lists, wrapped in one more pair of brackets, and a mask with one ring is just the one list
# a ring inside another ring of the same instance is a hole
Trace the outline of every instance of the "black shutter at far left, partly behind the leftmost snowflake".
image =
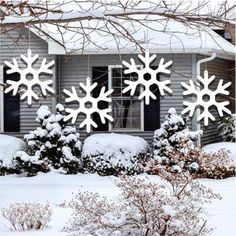
[[(4, 83), (7, 80), (19, 81), (19, 73), (7, 74), (9, 68), (4, 67)], [(20, 96), (12, 93), (4, 94), (4, 132), (20, 132)]]

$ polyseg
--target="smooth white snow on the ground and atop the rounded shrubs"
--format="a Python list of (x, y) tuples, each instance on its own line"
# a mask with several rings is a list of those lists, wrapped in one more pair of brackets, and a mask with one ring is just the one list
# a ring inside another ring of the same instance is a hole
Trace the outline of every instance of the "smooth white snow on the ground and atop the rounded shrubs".
[[(96, 151), (96, 146), (99, 144), (104, 150), (118, 145), (124, 145), (132, 150), (137, 148), (145, 148), (145, 141), (141, 138), (120, 134), (97, 134), (90, 137), (91, 150)], [(111, 140), (116, 141), (116, 145), (111, 145)], [(129, 144), (127, 143), (129, 140)], [(0, 150), (1, 153), (9, 154), (13, 148), (22, 148), (24, 142), (17, 138), (12, 138), (6, 135), (0, 135)], [(132, 145), (131, 145), (131, 144)], [(18, 144), (18, 146), (16, 145)], [(9, 148), (11, 145), (11, 148)], [(94, 145), (94, 146), (93, 146)], [(5, 147), (5, 149), (4, 149)], [(204, 150), (207, 152), (215, 152), (221, 148), (231, 151), (231, 156), (235, 157), (235, 143), (216, 143), (207, 145)], [(3, 150), (5, 152), (3, 152)], [(65, 150), (66, 152), (68, 150)], [(11, 154), (12, 155), (12, 154)], [(155, 175), (139, 175), (140, 178), (149, 179), (153, 183), (162, 183), (159, 176)], [(201, 184), (212, 188), (216, 193), (220, 193), (221, 200), (213, 200), (212, 204), (205, 204), (203, 207), (207, 213), (207, 223), (214, 227), (214, 236), (235, 235), (235, 180), (236, 178), (228, 178), (223, 180), (200, 179)], [(108, 197), (108, 199), (119, 200), (119, 189), (115, 182), (117, 178), (114, 176), (102, 177), (97, 174), (77, 174), (77, 175), (62, 175), (51, 171), (47, 174), (39, 173), (35, 177), (23, 177), (17, 175), (0, 176), (0, 208), (8, 207), (15, 202), (38, 202), (47, 204), (53, 210), (52, 220), (47, 228), (42, 231), (27, 231), (14, 232), (11, 231), (10, 225), (0, 213), (0, 235), (4, 236), (66, 236), (66, 232), (62, 232), (63, 226), (67, 223), (71, 215), (71, 209), (62, 207), (61, 204), (65, 200), (70, 200), (73, 193), (79, 190), (90, 191)], [(163, 206), (167, 215), (174, 215), (175, 212), (171, 206)], [(115, 217), (115, 215), (114, 215)], [(109, 216), (104, 216), (103, 220), (107, 220)]]

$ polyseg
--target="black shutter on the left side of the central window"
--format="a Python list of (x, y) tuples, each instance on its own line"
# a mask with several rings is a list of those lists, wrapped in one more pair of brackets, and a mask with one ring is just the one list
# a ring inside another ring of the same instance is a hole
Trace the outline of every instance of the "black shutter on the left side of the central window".
[[(93, 90), (93, 96), (97, 98), (103, 86), (105, 86), (106, 91), (108, 90), (108, 67), (93, 67), (92, 81), (93, 83), (98, 83), (98, 86)], [(98, 103), (98, 108), (105, 109), (108, 108), (108, 105), (107, 102), (101, 101)], [(105, 124), (102, 124), (98, 113), (93, 114), (93, 120), (98, 125), (97, 128), (93, 129), (94, 131), (108, 131), (108, 121), (106, 121)]]

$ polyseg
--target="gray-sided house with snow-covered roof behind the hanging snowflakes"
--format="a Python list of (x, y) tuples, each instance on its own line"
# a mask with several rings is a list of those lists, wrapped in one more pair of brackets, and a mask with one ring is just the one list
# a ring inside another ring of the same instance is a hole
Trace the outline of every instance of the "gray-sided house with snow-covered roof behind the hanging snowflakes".
[[(19, 96), (14, 97), (0, 92), (0, 133), (22, 137), (36, 127), (36, 111), (41, 104), (49, 105), (52, 109), (55, 109), (55, 104), (58, 102), (64, 104), (63, 89), (69, 90), (71, 86), (78, 89), (79, 82), (85, 82), (86, 77), (90, 76), (93, 81), (98, 82), (100, 87), (105, 85), (106, 88), (115, 90), (112, 95), (114, 122), (102, 125), (95, 115), (94, 119), (99, 123), (99, 127), (94, 129), (92, 133), (129, 133), (141, 136), (151, 142), (153, 131), (159, 128), (168, 109), (175, 107), (178, 113), (183, 110), (185, 98), (181, 82), (188, 83), (189, 79), (197, 82), (196, 63), (199, 59), (208, 57), (212, 52), (216, 53), (214, 60), (201, 65), (201, 73), (207, 69), (210, 75), (216, 76), (212, 89), (216, 88), (217, 81), (220, 79), (223, 79), (224, 83), (232, 80), (232, 71), (229, 68), (235, 60), (235, 47), (211, 29), (188, 27), (173, 21), (167, 24), (165, 32), (158, 30), (147, 32), (146, 28), (141, 28), (134, 35), (144, 48), (149, 49), (151, 54), (157, 54), (157, 60), (153, 63), (153, 67), (158, 65), (160, 58), (164, 58), (165, 61), (173, 61), (171, 75), (168, 76), (168, 79), (171, 80), (170, 87), (173, 93), (160, 96), (156, 91), (158, 99), (151, 101), (149, 105), (138, 101), (136, 96), (124, 96), (121, 93), (125, 78), (122, 60), (129, 61), (130, 58), (134, 58), (136, 64), (140, 64), (137, 58), (140, 50), (124, 38), (117, 39), (118, 41), (115, 42), (115, 39), (110, 35), (89, 32), (92, 41), (99, 42), (100, 45), (86, 43), (84, 48), (81, 47), (84, 40), (81, 35), (75, 34), (72, 37), (70, 33), (65, 31), (62, 41), (58, 30), (52, 26), (50, 28), (46, 24), (40, 26), (41, 31), (37, 27), (31, 27), (25, 28), (23, 31), (14, 29), (1, 32), (0, 79), (2, 82), (10, 78), (17, 79), (18, 76), (17, 74), (6, 74), (7, 68), (4, 61), (12, 61), (12, 58), (20, 61), (20, 55), (26, 54), (27, 49), (31, 48), (33, 54), (40, 56), (35, 64), (36, 67), (40, 65), (42, 58), (47, 58), (48, 61), (55, 60), (54, 73), (51, 78), (56, 96), (40, 97), (38, 102), (33, 102), (29, 107), (26, 101), (19, 100)], [(157, 29), (157, 27), (163, 27), (163, 24), (153, 25), (150, 28)], [(165, 76), (161, 74), (159, 79), (163, 80)], [(98, 93), (98, 90), (94, 93)], [(101, 104), (101, 106), (104, 107), (106, 104)], [(216, 121), (210, 121), (207, 127), (202, 122), (200, 124), (197, 122), (197, 112), (189, 120), (190, 129), (196, 130), (200, 127), (204, 130), (202, 144), (220, 140), (217, 130), (220, 117), (216, 110), (213, 111), (213, 114)], [(77, 127), (82, 119), (83, 117), (79, 117), (76, 123)], [(85, 130), (80, 132), (82, 138), (88, 135)]]

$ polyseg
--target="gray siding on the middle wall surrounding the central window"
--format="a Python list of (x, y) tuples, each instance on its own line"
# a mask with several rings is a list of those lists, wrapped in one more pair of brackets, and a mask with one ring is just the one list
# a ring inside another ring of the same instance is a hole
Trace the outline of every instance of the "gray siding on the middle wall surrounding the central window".
[[(91, 71), (93, 66), (108, 66), (108, 65), (121, 65), (122, 60), (129, 61), (133, 57), (137, 64), (141, 64), (137, 60), (137, 55), (90, 55), (89, 58), (86, 55), (81, 56), (61, 56), (58, 60), (58, 67), (60, 77), (58, 78), (58, 90), (61, 96), (63, 96), (63, 89), (71, 89), (71, 86), (79, 88), (79, 82), (84, 82), (87, 76), (91, 77)], [(172, 60), (173, 65), (171, 68), (171, 89), (173, 94), (165, 95), (160, 99), (160, 115), (161, 122), (170, 107), (175, 107), (177, 112), (180, 113), (183, 108), (183, 89), (180, 85), (181, 81), (187, 82), (188, 79), (192, 78), (192, 56), (187, 54), (160, 54), (153, 65), (157, 65), (159, 60), (164, 57), (165, 61)], [(88, 68), (89, 67), (89, 68)], [(164, 77), (161, 76), (161, 80)], [(59, 92), (58, 91), (58, 92)], [(61, 100), (63, 103), (63, 99)], [(78, 124), (81, 120), (78, 120)], [(189, 122), (191, 128), (191, 121)], [(82, 136), (85, 137), (87, 134), (81, 131)], [(132, 135), (139, 135), (151, 142), (153, 132), (129, 132)]]

